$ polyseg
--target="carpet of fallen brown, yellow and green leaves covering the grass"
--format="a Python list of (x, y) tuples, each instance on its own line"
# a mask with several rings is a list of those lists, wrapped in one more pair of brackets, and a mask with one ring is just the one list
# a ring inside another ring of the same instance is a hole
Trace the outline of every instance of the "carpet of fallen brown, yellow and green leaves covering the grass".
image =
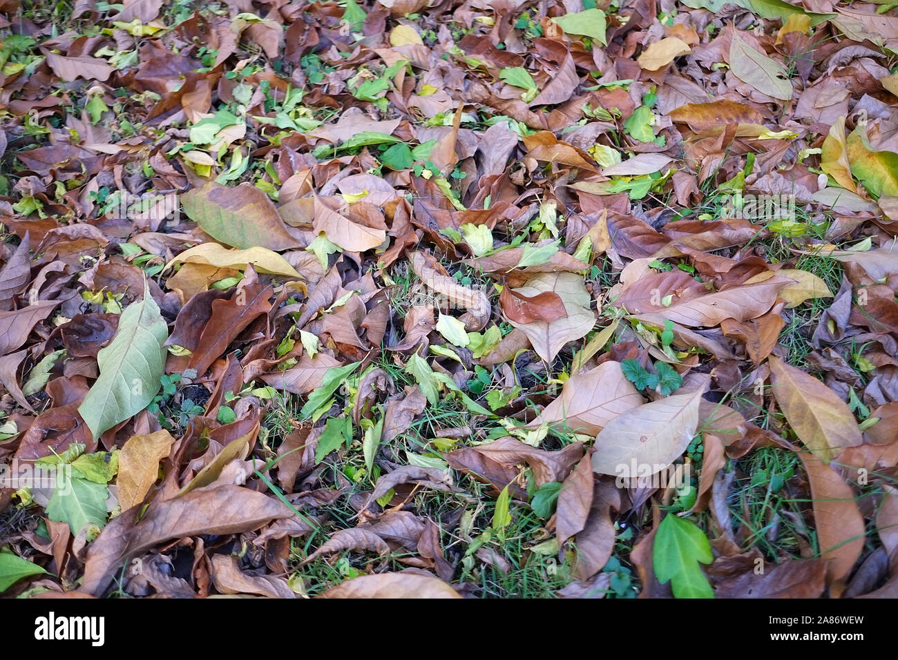
[(0, 35), (4, 594), (898, 594), (892, 5)]

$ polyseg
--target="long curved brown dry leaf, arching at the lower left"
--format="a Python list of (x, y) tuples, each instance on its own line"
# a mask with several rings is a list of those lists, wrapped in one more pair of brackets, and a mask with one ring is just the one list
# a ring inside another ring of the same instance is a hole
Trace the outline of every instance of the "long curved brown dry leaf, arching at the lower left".
[(87, 550), (80, 591), (99, 596), (121, 565), (158, 543), (198, 534), (251, 532), (293, 514), (288, 506), (240, 486), (200, 488), (184, 497), (154, 502), (136, 522), (138, 507), (114, 518)]

